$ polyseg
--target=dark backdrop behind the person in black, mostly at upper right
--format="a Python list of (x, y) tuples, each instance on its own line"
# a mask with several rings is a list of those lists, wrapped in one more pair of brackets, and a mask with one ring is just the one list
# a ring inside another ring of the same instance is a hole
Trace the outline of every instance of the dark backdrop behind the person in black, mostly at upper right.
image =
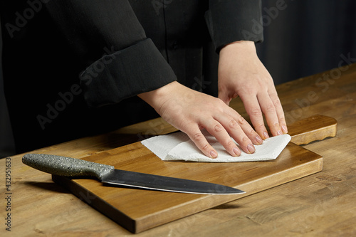
[[(264, 41), (257, 45), (276, 85), (337, 68), (342, 56), (356, 58), (356, 1), (284, 2), (278, 9), (281, 0), (263, 0)], [(12, 139), (0, 66), (0, 157), (14, 154)]]

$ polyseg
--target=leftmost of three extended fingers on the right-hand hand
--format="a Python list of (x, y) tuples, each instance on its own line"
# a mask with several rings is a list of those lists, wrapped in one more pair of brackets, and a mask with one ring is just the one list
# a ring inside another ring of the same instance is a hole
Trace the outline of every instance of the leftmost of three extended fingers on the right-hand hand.
[(244, 106), (250, 120), (252, 122), (253, 127), (260, 137), (263, 139), (268, 138), (268, 132), (266, 130), (266, 126), (263, 121), (263, 114), (261, 111), (260, 104), (256, 97), (245, 97), (244, 95), (240, 95), (242, 102), (244, 102)]

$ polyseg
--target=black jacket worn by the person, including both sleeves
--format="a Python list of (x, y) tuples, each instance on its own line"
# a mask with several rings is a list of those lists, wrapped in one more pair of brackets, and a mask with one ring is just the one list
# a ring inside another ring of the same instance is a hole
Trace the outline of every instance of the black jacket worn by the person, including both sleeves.
[(263, 38), (259, 0), (16, 0), (0, 11), (18, 152), (157, 117), (135, 95), (174, 80), (216, 95), (221, 47)]

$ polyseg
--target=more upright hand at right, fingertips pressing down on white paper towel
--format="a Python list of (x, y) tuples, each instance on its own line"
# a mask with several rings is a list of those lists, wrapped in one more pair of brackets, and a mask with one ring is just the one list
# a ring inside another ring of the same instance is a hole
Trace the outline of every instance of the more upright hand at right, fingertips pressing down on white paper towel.
[(288, 132), (273, 79), (258, 59), (252, 41), (236, 41), (220, 51), (219, 98), (229, 105), (237, 96), (263, 139), (268, 138), (263, 115), (273, 136)]

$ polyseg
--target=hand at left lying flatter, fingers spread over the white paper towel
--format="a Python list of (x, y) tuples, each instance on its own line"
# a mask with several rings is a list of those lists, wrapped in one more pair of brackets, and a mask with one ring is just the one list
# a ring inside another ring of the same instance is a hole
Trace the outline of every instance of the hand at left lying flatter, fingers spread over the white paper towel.
[(244, 117), (222, 100), (177, 82), (138, 96), (155, 108), (164, 120), (185, 132), (207, 157), (216, 158), (218, 154), (206, 141), (202, 129), (216, 137), (234, 157), (241, 151), (231, 137), (246, 153), (255, 152), (253, 144), (263, 142)]

